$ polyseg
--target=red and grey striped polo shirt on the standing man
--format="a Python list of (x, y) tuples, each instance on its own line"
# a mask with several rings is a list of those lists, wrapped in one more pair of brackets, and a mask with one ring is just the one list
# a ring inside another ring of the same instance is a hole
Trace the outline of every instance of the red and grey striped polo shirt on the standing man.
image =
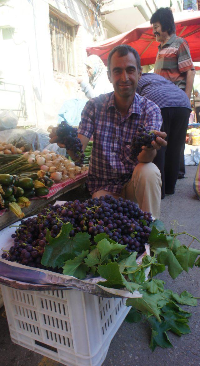
[(154, 73), (171, 80), (181, 89), (186, 86), (186, 72), (194, 70), (189, 46), (186, 40), (176, 34), (162, 48), (158, 46)]

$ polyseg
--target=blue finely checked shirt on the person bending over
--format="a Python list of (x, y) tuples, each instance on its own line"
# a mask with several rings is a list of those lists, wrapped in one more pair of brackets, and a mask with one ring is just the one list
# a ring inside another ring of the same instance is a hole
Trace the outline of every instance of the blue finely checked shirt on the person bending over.
[(184, 107), (191, 110), (185, 91), (157, 74), (142, 74), (141, 79), (138, 80), (136, 92), (152, 100), (159, 108)]

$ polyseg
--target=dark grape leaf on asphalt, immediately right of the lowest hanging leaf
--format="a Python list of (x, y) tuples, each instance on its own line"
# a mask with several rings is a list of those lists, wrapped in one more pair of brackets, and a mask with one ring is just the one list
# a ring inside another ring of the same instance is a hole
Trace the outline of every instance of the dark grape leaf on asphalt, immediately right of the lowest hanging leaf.
[(188, 319), (182, 317), (181, 315), (175, 313), (174, 311), (168, 311), (162, 314), (167, 324), (170, 326), (171, 332), (181, 336), (181, 334), (190, 333), (190, 328)]

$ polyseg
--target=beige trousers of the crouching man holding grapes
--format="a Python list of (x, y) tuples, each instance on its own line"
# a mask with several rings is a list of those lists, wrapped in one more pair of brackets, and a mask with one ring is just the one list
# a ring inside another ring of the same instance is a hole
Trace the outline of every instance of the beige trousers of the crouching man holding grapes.
[(105, 190), (93, 193), (92, 197), (111, 194), (115, 198), (123, 197), (136, 202), (143, 211), (151, 212), (155, 219), (159, 219), (161, 205), (161, 174), (153, 163), (139, 163), (134, 168), (132, 177), (122, 188), (120, 195)]

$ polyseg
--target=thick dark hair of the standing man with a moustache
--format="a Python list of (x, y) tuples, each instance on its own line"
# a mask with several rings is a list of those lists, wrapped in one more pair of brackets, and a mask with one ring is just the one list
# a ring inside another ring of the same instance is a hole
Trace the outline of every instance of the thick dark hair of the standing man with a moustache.
[(173, 12), (170, 8), (159, 8), (151, 16), (150, 23), (161, 23), (162, 32), (168, 32), (169, 36), (176, 32)]

